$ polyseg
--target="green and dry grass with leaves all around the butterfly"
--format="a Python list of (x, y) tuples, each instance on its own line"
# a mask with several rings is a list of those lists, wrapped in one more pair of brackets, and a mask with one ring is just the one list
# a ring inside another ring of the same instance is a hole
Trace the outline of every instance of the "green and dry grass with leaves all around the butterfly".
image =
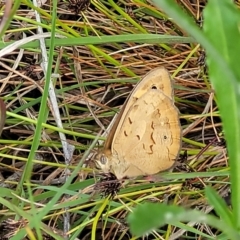
[[(69, 2), (15, 0), (1, 33), (0, 239), (239, 239), (238, 1)], [(178, 165), (103, 197), (93, 153), (157, 66), (175, 81)]]

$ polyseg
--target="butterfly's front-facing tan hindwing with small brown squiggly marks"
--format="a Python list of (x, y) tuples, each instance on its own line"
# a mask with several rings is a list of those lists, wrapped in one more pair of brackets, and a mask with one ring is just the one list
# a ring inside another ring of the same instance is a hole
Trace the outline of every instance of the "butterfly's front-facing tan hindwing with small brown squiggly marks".
[(173, 166), (181, 147), (181, 127), (171, 98), (150, 89), (121, 120), (112, 143), (117, 178), (151, 175)]

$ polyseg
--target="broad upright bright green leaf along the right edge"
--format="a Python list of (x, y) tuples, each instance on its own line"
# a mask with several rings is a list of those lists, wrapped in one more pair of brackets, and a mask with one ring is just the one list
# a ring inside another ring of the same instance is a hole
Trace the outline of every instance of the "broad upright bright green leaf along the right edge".
[[(214, 21), (212, 13), (214, 12)], [(225, 61), (219, 66), (208, 54), (209, 77), (217, 95), (230, 157), (233, 222), (240, 228), (240, 12), (231, 1), (209, 1), (204, 11), (204, 33)], [(216, 27), (217, 26), (217, 27)], [(231, 72), (232, 77), (228, 75)]]

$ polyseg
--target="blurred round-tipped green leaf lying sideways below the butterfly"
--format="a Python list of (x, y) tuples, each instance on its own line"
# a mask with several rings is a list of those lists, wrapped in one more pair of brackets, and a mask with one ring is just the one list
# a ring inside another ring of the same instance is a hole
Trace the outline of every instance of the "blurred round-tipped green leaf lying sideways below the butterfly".
[(130, 231), (133, 235), (143, 236), (149, 232), (165, 225), (178, 225), (179, 222), (193, 221), (196, 223), (206, 223), (215, 228), (226, 232), (232, 240), (240, 239), (240, 235), (226, 224), (210, 214), (204, 214), (196, 210), (185, 210), (183, 207), (144, 203), (138, 205), (136, 209), (129, 214), (127, 221), (130, 225)]

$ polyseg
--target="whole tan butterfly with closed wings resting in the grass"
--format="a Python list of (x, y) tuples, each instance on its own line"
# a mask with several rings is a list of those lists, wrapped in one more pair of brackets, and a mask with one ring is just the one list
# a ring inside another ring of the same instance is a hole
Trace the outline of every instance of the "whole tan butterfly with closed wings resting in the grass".
[(118, 179), (171, 168), (181, 148), (178, 109), (168, 72), (157, 68), (130, 94), (98, 154), (97, 164)]

